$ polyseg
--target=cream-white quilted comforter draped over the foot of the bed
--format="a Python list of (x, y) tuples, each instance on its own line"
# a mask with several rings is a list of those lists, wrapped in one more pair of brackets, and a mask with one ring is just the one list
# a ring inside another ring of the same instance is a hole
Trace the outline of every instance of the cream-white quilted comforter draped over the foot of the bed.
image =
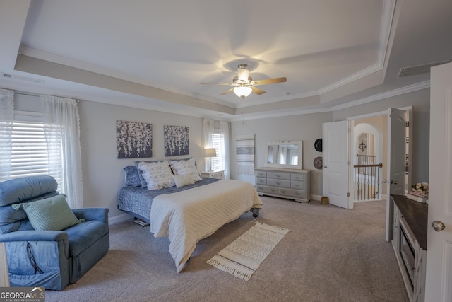
[(251, 208), (261, 207), (262, 201), (249, 182), (219, 180), (155, 197), (150, 208), (150, 231), (155, 237), (169, 238), (169, 252), (177, 272), (181, 272), (199, 240)]

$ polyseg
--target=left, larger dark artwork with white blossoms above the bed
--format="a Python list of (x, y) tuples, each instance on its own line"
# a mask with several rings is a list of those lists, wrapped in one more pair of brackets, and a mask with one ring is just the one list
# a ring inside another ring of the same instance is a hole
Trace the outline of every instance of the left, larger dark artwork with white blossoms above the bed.
[(143, 122), (116, 122), (117, 158), (153, 156), (153, 125)]

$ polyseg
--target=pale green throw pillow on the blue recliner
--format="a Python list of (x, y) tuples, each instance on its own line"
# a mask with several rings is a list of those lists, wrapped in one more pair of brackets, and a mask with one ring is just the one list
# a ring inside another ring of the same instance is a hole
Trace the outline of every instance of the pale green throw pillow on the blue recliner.
[(32, 227), (37, 231), (61, 231), (80, 223), (69, 208), (64, 194), (36, 202), (26, 202), (22, 204), (22, 207)]

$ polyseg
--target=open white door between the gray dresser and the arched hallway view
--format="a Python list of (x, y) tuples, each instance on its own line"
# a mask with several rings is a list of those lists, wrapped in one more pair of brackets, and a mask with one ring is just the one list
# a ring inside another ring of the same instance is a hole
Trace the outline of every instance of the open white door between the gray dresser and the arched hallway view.
[(323, 123), (323, 196), (330, 204), (349, 208), (348, 122)]

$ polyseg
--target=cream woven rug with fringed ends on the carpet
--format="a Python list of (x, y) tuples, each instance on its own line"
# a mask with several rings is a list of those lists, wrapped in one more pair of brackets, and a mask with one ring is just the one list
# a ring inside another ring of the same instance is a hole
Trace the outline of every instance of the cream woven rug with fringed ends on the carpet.
[(248, 281), (273, 248), (289, 232), (287, 228), (256, 222), (256, 225), (207, 260), (207, 263)]

